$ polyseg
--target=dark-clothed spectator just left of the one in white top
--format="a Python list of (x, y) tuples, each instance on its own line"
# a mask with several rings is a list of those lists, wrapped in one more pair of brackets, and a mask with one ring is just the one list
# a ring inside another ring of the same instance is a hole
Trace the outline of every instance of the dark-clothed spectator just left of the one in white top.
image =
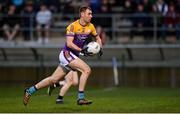
[(29, 41), (33, 35), (33, 28), (35, 25), (34, 21), (34, 10), (32, 5), (26, 5), (24, 11), (22, 12), (22, 25), (23, 25), (23, 35), (24, 40)]

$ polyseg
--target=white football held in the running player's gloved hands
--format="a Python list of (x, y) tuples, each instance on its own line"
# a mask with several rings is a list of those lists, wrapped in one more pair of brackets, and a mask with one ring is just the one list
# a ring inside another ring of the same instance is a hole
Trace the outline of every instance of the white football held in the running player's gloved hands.
[(97, 54), (99, 53), (100, 49), (101, 49), (101, 46), (97, 43), (97, 42), (90, 42), (88, 45), (87, 45), (88, 49), (87, 51), (88, 52), (91, 52), (93, 54)]

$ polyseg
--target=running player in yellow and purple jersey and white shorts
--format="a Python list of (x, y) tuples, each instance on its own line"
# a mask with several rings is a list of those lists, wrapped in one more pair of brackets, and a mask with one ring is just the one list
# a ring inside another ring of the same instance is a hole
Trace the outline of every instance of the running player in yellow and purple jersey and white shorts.
[[(96, 42), (98, 42), (100, 46), (102, 46), (102, 43), (94, 25), (91, 23), (91, 8), (88, 6), (81, 7), (79, 9), (79, 15), (80, 19), (71, 23), (66, 29), (66, 43), (59, 54), (60, 64), (57, 66), (54, 73), (34, 86), (25, 89), (23, 98), (25, 106), (28, 104), (32, 94), (34, 94), (37, 90), (57, 83), (69, 71), (81, 72), (77, 104), (88, 105), (92, 103), (92, 101), (86, 100), (84, 95), (86, 82), (91, 73), (91, 68), (79, 58), (79, 54), (82, 53), (84, 56), (90, 56), (92, 54), (87, 51), (87, 48), (84, 48), (86, 39), (88, 39), (89, 35), (94, 36), (96, 38)], [(99, 53), (100, 55), (102, 55), (101, 52), (102, 51)]]

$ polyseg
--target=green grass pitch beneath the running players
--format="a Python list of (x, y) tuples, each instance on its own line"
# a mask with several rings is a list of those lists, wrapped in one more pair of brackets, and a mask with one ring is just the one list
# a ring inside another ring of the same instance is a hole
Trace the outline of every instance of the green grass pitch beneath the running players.
[(94, 101), (89, 106), (76, 105), (74, 88), (63, 105), (55, 104), (58, 90), (49, 97), (42, 89), (31, 97), (27, 107), (22, 104), (22, 87), (0, 87), (0, 91), (0, 112), (180, 112), (179, 88), (88, 88), (86, 96)]

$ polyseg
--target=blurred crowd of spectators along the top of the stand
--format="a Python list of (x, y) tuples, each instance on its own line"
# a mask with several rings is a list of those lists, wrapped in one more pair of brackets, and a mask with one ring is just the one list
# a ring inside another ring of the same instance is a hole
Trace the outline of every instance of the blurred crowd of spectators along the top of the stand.
[[(175, 40), (180, 38), (180, 0), (0, 0), (0, 37), (13, 40), (23, 27), (24, 40), (28, 41), (33, 35), (31, 29), (35, 28), (37, 41), (47, 43), (52, 15), (78, 14), (82, 4), (91, 6), (95, 14), (133, 15), (125, 16), (126, 20), (133, 23), (131, 36), (138, 34), (152, 37), (153, 30), (150, 28), (153, 28), (154, 20), (150, 14), (159, 15), (157, 36), (165, 38), (174, 35)], [(34, 18), (31, 15), (35, 15)], [(95, 25), (111, 27), (111, 21), (103, 19), (96, 21)], [(110, 33), (108, 35), (111, 36)]]

